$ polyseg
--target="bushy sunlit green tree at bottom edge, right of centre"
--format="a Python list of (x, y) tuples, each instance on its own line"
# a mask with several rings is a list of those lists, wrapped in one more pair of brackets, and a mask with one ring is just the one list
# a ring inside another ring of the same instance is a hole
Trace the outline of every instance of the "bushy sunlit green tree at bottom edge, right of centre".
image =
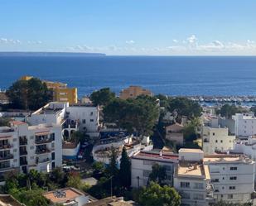
[(167, 185), (161, 187), (151, 182), (148, 187), (143, 187), (139, 194), (139, 204), (142, 206), (180, 206), (181, 196), (174, 188)]

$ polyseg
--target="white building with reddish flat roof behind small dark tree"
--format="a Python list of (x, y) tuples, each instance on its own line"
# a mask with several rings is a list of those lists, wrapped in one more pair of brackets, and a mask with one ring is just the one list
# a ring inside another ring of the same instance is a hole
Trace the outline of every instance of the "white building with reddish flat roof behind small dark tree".
[(133, 188), (146, 186), (148, 176), (152, 172), (152, 165), (158, 164), (166, 168), (167, 184), (173, 185), (174, 166), (178, 162), (178, 155), (166, 151), (139, 151), (131, 158)]

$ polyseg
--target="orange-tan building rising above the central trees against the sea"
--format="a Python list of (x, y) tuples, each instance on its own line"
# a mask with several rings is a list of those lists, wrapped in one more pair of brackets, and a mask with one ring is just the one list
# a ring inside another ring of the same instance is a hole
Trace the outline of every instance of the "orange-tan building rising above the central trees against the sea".
[(123, 89), (120, 93), (120, 98), (137, 98), (139, 95), (153, 96), (153, 93), (150, 90), (142, 89), (139, 86), (129, 86), (127, 89)]

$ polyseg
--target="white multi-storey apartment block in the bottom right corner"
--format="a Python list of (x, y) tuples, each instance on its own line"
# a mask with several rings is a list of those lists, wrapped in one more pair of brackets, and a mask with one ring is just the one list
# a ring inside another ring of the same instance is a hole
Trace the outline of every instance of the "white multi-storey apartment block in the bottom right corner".
[(255, 162), (246, 156), (205, 156), (204, 164), (209, 166), (214, 197), (234, 204), (252, 201), (254, 193)]

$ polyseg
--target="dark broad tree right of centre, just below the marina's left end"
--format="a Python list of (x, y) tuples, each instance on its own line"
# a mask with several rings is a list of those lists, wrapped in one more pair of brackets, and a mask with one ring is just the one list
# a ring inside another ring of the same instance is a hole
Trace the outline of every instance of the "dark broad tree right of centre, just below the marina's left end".
[(170, 113), (176, 111), (179, 120), (181, 120), (182, 116), (186, 116), (189, 119), (192, 117), (200, 117), (202, 113), (200, 104), (188, 98), (171, 98), (167, 109)]

